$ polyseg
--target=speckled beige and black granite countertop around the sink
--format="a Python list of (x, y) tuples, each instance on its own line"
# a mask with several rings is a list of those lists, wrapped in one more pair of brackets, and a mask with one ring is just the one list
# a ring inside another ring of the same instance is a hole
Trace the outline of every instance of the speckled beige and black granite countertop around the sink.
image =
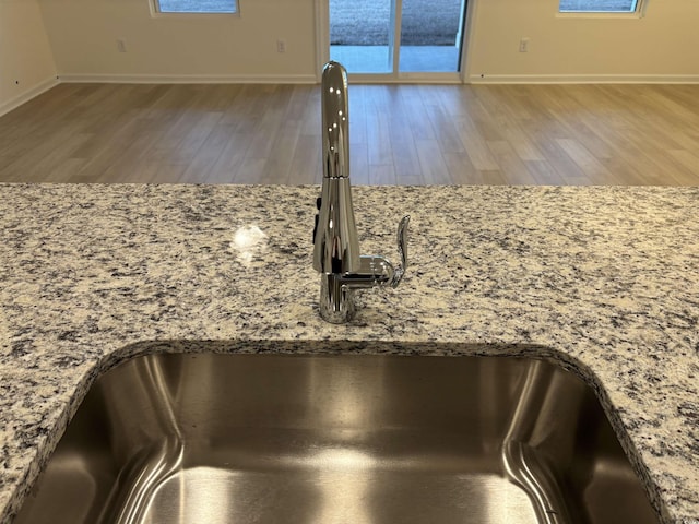
[(363, 251), (394, 259), (410, 213), (412, 266), (350, 325), (318, 318), (317, 187), (0, 194), (2, 522), (107, 367), (177, 341), (321, 340), (574, 366), (664, 521), (699, 522), (699, 188), (355, 187)]

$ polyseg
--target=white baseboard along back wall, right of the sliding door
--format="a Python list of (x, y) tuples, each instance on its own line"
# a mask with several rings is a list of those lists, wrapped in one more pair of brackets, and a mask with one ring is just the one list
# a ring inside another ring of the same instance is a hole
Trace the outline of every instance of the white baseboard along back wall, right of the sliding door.
[(471, 74), (472, 84), (699, 84), (699, 74)]

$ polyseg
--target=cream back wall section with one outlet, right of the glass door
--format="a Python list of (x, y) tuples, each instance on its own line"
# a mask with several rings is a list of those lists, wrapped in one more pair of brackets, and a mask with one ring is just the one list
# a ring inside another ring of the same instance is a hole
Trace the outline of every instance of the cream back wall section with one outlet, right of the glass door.
[(648, 0), (641, 19), (558, 15), (558, 0), (471, 1), (471, 81), (699, 82), (697, 0)]

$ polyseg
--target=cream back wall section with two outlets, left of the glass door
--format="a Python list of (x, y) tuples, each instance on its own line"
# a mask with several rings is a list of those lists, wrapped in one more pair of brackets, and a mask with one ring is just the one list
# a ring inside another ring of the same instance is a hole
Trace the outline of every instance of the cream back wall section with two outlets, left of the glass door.
[(147, 0), (39, 1), (62, 80), (316, 78), (313, 0), (239, 0), (239, 16), (155, 17)]

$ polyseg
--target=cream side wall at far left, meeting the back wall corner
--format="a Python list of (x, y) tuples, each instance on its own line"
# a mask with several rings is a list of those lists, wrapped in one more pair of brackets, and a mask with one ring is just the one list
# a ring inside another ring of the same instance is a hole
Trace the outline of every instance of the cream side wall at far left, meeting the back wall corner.
[(0, 0), (0, 115), (51, 87), (56, 66), (36, 0)]

